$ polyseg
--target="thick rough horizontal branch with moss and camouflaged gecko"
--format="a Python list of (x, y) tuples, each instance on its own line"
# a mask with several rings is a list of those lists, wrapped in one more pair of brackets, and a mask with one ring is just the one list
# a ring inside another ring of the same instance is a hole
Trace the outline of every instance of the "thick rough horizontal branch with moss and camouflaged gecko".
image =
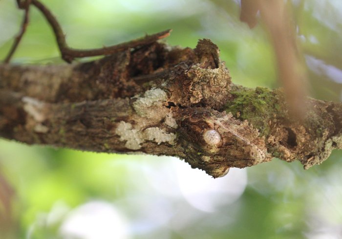
[(342, 104), (237, 86), (217, 46), (152, 43), (72, 65), (0, 65), (0, 136), (185, 159), (214, 177), (278, 157), (305, 169), (342, 148)]

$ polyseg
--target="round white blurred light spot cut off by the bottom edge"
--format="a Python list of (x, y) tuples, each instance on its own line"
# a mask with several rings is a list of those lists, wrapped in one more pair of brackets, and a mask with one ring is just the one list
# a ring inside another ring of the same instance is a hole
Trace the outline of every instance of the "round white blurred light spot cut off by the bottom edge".
[(128, 222), (113, 204), (92, 201), (69, 213), (60, 235), (63, 239), (128, 239)]

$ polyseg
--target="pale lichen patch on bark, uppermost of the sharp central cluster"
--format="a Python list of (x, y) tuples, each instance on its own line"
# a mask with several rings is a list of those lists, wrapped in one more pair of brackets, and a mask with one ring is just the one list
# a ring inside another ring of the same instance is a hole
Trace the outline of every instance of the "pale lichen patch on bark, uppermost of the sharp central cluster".
[(133, 108), (137, 114), (144, 117), (150, 115), (148, 108), (153, 105), (160, 107), (162, 102), (168, 99), (166, 92), (159, 88), (147, 90), (143, 97), (135, 96), (135, 98), (137, 100), (133, 103)]

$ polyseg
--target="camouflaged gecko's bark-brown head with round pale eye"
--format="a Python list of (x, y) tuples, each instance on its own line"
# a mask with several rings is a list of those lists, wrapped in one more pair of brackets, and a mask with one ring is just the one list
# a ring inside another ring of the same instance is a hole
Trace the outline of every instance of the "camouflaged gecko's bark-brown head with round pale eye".
[(178, 122), (180, 143), (192, 168), (220, 177), (231, 167), (265, 161), (265, 142), (247, 122), (209, 108), (184, 109), (182, 115), (186, 117)]

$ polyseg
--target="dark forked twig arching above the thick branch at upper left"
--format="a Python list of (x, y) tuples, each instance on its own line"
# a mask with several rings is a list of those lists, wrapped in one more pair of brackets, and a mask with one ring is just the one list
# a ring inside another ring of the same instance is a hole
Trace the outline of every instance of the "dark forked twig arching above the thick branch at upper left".
[[(22, 5), (32, 4), (42, 12), (43, 16), (45, 17), (47, 22), (49, 22), (49, 24), (51, 25), (51, 27), (53, 29), (58, 47), (59, 47), (61, 55), (62, 55), (62, 59), (68, 63), (71, 63), (75, 58), (78, 58), (78, 57), (110, 55), (110, 54), (113, 54), (115, 52), (122, 51), (124, 49), (134, 48), (134, 47), (141, 46), (141, 45), (147, 45), (147, 44), (153, 43), (159, 39), (168, 37), (170, 35), (170, 32), (171, 32), (171, 29), (169, 29), (169, 30), (162, 31), (162, 32), (159, 32), (156, 34), (146, 35), (143, 38), (139, 38), (139, 39), (135, 39), (135, 40), (132, 40), (129, 42), (120, 43), (117, 45), (112, 45), (112, 46), (103, 47), (103, 48), (85, 49), (85, 50), (73, 49), (66, 44), (65, 36), (64, 36), (63, 30), (62, 30), (60, 24), (57, 22), (56, 18), (53, 16), (53, 14), (43, 5), (43, 3), (41, 3), (39, 0), (26, 0), (25, 3), (21, 3), (20, 0), (17, 0), (17, 1), (18, 1), (19, 8), (21, 8)], [(27, 7), (27, 9), (28, 9), (28, 7)], [(27, 12), (27, 14), (26, 14), (26, 12)], [(26, 15), (28, 15), (28, 10), (25, 11), (25, 16)], [(27, 22), (25, 23), (26, 25), (27, 25)], [(24, 24), (23, 24), (21, 27), (22, 34), (26, 28), (26, 25), (24, 26)], [(21, 34), (21, 36), (22, 36), (22, 34)], [(7, 58), (6, 58), (6, 60), (8, 59), (7, 61), (5, 61), (6, 63), (9, 62), (9, 60), (10, 60), (11, 56), (13, 55), (15, 49), (17, 48), (17, 45), (19, 44), (19, 42), (20, 42), (20, 39), (19, 39), (19, 41), (16, 41), (15, 44), (13, 45), (11, 52), (10, 52), (11, 55), (9, 54), (9, 56), (7, 56)]]

